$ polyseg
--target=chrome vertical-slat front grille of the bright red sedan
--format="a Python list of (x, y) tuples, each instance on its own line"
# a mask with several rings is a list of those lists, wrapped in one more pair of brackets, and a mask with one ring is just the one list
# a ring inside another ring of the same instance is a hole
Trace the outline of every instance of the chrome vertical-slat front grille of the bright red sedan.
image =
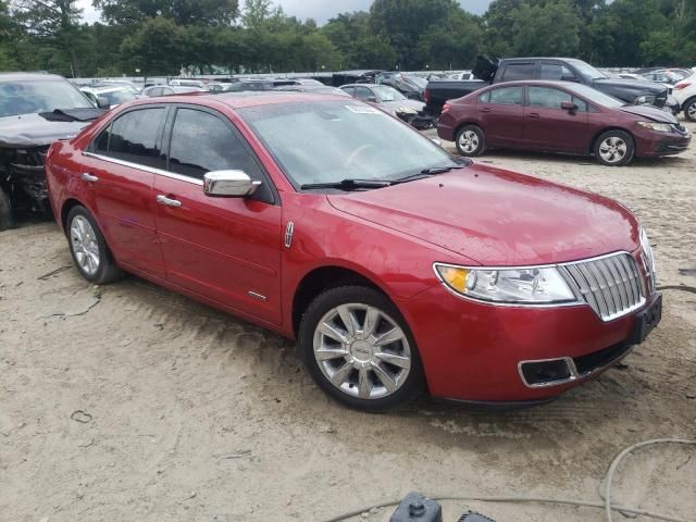
[(568, 263), (561, 272), (602, 321), (621, 318), (645, 303), (641, 271), (627, 253)]

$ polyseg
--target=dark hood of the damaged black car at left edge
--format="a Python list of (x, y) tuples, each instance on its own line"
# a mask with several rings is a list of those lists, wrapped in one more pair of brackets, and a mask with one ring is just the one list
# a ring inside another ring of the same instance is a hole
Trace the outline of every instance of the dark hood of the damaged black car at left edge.
[(40, 147), (71, 139), (91, 122), (50, 122), (38, 114), (0, 117), (0, 146)]

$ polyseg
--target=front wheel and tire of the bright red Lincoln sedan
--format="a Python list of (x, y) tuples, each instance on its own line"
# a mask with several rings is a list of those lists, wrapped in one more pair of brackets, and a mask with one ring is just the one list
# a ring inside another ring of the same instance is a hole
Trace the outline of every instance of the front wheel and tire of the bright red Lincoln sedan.
[(341, 286), (321, 294), (302, 318), (298, 341), (319, 387), (350, 408), (391, 410), (425, 388), (408, 324), (372, 288)]

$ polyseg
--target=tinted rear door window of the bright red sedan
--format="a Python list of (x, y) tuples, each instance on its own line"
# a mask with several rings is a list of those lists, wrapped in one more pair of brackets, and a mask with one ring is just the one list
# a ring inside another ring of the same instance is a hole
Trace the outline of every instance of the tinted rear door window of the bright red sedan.
[(92, 151), (154, 169), (164, 167), (159, 145), (164, 107), (138, 109), (119, 116), (92, 144)]

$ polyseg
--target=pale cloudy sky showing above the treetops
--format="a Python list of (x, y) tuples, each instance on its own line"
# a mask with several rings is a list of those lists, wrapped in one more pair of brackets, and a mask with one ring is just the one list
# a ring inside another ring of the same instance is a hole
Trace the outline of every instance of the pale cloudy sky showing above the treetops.
[[(97, 22), (99, 12), (91, 5), (91, 0), (79, 0), (78, 5), (84, 10), (85, 22)], [(240, 0), (241, 5), (244, 0)], [(372, 4), (372, 0), (275, 0), (276, 4), (283, 5), (285, 12), (298, 18), (314, 18), (319, 24), (325, 23), (328, 18), (338, 13), (347, 11), (366, 11)], [(490, 0), (459, 0), (462, 8), (474, 14), (483, 14)]]

